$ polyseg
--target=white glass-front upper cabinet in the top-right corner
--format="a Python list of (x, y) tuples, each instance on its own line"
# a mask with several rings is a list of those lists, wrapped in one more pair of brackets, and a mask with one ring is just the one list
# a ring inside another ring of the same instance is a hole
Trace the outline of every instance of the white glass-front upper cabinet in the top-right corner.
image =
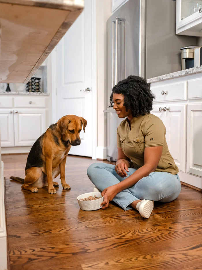
[(176, 34), (202, 36), (202, 0), (176, 0)]

